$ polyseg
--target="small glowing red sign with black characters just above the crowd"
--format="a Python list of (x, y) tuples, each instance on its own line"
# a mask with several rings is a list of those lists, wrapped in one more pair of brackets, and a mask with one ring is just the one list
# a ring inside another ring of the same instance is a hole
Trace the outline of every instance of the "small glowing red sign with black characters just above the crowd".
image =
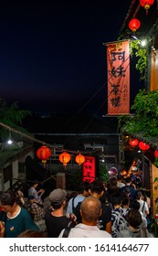
[(95, 180), (95, 157), (85, 156), (83, 163), (83, 181), (92, 182)]

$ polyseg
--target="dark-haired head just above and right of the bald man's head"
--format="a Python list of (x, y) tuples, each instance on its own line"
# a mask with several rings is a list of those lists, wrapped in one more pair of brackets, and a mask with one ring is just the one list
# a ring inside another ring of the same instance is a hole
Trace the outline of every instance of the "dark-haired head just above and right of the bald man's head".
[(104, 187), (100, 180), (94, 180), (90, 183), (90, 195), (94, 197), (101, 197), (104, 193)]

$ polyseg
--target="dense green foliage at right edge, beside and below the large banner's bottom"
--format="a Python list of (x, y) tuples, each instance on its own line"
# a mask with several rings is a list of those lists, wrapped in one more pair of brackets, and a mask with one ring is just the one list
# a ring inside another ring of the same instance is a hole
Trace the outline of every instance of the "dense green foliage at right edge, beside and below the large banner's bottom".
[(118, 131), (143, 133), (146, 138), (158, 136), (158, 91), (140, 90), (134, 99), (132, 110), (134, 115), (118, 118)]

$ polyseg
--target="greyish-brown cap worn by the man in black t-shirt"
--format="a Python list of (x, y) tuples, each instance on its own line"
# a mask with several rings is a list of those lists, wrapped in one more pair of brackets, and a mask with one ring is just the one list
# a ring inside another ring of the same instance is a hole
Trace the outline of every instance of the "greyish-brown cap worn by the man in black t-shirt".
[(51, 203), (61, 204), (67, 197), (67, 191), (61, 188), (54, 189), (49, 194), (49, 200)]

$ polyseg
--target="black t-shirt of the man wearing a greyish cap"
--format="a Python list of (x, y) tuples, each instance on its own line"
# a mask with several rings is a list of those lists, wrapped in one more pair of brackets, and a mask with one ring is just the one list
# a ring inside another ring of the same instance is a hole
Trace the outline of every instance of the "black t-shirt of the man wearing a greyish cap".
[(69, 219), (66, 216), (55, 217), (51, 215), (51, 211), (47, 209), (45, 222), (47, 226), (47, 237), (58, 238), (61, 230), (68, 227)]

